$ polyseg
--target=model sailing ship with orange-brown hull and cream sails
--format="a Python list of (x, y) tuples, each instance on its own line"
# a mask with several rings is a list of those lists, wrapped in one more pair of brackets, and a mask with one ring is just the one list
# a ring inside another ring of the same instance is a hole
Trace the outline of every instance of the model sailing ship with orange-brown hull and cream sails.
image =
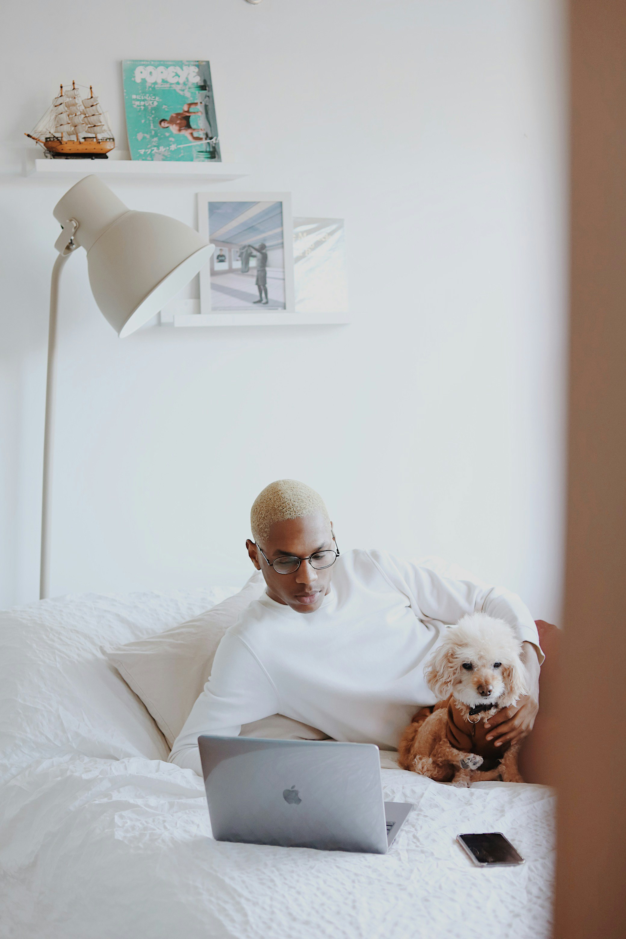
[(26, 136), (41, 144), (47, 157), (69, 160), (106, 160), (115, 146), (108, 115), (102, 113), (92, 86), (89, 97), (81, 98), (74, 82), (70, 91), (61, 85), (52, 106)]

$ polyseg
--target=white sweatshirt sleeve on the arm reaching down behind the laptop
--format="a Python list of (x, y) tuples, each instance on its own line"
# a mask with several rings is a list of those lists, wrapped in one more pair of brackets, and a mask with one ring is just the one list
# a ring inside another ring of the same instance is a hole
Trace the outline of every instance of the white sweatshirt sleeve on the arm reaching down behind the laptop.
[(198, 737), (237, 737), (242, 724), (276, 714), (280, 701), (266, 670), (249, 646), (232, 632), (221, 639), (204, 691), (191, 708), (169, 762), (202, 776)]

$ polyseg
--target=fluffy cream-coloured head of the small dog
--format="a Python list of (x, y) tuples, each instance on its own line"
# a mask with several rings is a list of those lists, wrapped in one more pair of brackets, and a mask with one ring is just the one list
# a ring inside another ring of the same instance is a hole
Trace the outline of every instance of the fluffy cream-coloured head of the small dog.
[(446, 630), (426, 667), (426, 682), (439, 700), (451, 694), (469, 707), (507, 707), (526, 693), (521, 643), (503, 620), (477, 613)]

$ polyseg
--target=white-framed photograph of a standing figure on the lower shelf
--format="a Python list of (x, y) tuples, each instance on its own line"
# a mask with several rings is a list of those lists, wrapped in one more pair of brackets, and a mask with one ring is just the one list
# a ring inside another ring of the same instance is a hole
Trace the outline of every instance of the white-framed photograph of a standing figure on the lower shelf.
[(198, 228), (215, 245), (200, 271), (201, 314), (295, 313), (289, 193), (199, 192)]

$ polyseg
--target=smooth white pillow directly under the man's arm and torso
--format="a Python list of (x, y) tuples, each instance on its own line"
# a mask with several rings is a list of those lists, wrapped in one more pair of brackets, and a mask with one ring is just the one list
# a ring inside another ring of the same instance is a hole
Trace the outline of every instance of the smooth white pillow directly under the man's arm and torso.
[[(211, 673), (213, 659), (226, 630), (239, 614), (265, 590), (260, 571), (239, 593), (206, 610), (187, 623), (157, 636), (104, 651), (130, 685), (171, 748)], [(289, 740), (325, 740), (327, 735), (282, 715), (265, 717), (241, 728), (241, 735)]]

